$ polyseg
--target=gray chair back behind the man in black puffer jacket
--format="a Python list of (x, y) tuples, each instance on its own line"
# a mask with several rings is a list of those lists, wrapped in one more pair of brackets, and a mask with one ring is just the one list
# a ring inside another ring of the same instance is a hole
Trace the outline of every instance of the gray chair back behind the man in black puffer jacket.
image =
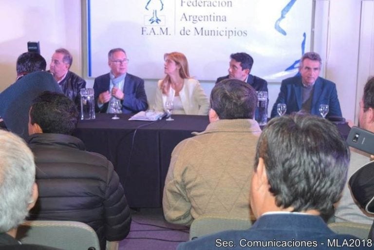
[(100, 250), (96, 232), (77, 221), (25, 221), (17, 231), (23, 244), (37, 244), (63, 250)]

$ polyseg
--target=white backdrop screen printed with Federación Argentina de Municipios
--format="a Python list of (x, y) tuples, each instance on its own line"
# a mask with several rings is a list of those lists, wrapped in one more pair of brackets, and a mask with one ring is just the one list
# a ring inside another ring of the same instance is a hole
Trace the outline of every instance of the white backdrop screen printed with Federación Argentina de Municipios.
[(229, 55), (246, 52), (254, 75), (280, 82), (297, 73), (303, 41), (305, 52), (311, 46), (311, 0), (88, 0), (87, 7), (89, 77), (107, 73), (108, 51), (121, 47), (129, 72), (146, 79), (163, 77), (167, 52), (184, 53), (199, 80), (226, 75)]

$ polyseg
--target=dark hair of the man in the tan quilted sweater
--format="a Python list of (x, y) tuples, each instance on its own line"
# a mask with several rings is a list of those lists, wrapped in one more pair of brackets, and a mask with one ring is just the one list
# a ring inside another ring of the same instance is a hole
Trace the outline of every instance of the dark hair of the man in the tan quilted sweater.
[(224, 79), (210, 93), (210, 107), (220, 119), (253, 119), (257, 93), (248, 83)]

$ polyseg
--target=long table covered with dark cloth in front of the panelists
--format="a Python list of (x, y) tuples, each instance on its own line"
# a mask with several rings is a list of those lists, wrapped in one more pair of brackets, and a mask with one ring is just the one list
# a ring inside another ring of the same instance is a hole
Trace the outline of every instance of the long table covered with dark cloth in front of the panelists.
[[(162, 191), (171, 152), (191, 133), (201, 132), (208, 125), (202, 115), (173, 115), (174, 121), (129, 121), (131, 115), (96, 114), (95, 120), (81, 120), (75, 136), (88, 151), (105, 155), (114, 165), (131, 207), (162, 206)], [(347, 138), (350, 128), (337, 124)]]

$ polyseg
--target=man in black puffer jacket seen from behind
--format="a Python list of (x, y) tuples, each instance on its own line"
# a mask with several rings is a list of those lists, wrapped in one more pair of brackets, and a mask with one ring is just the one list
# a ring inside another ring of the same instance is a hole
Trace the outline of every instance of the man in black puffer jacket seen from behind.
[(112, 163), (85, 151), (72, 136), (77, 119), (73, 101), (62, 94), (44, 92), (30, 108), (29, 147), (39, 187), (30, 219), (87, 223), (105, 249), (106, 240), (120, 241), (129, 233), (130, 208)]

